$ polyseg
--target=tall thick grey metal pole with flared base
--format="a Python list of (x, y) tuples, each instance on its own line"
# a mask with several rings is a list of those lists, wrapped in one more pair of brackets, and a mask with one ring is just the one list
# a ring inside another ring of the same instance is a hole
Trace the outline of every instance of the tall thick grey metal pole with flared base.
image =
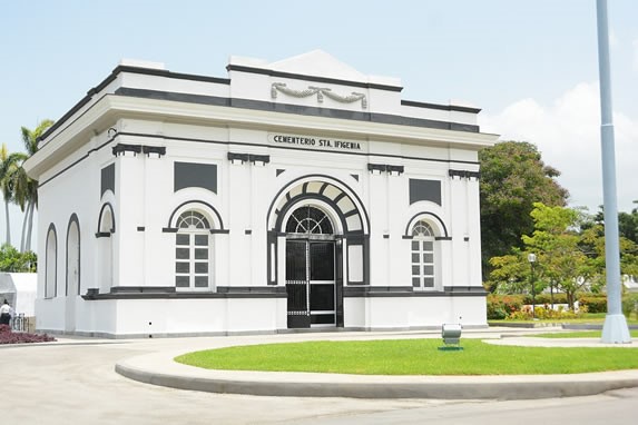
[(607, 316), (601, 343), (630, 343), (629, 328), (621, 310), (620, 250), (618, 247), (618, 206), (616, 199), (616, 158), (609, 70), (607, 0), (597, 0), (598, 69), (600, 78), (600, 144), (602, 154), (602, 197), (605, 208), (605, 261), (607, 269)]

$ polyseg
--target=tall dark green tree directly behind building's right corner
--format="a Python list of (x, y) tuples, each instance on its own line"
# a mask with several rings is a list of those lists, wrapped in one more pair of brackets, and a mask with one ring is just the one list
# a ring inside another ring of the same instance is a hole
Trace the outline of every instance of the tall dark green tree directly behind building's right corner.
[(482, 264), (483, 276), (489, 276), (490, 258), (524, 249), (521, 236), (534, 229), (533, 204), (562, 207), (569, 194), (556, 181), (560, 172), (544, 165), (530, 142), (499, 142), (481, 149), (479, 160)]

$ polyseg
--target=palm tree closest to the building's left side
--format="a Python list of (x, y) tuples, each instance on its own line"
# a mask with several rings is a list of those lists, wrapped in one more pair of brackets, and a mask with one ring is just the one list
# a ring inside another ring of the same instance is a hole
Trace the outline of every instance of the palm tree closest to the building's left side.
[[(27, 156), (31, 157), (38, 151), (38, 139), (53, 125), (53, 121), (46, 119), (41, 121), (35, 130), (29, 130), (22, 127), (22, 144), (27, 150)], [(27, 211), (24, 220), (22, 221), (22, 241), (20, 250), (31, 250), (31, 229), (33, 228), (33, 211), (38, 207), (38, 181), (27, 176), (22, 167), (19, 167), (12, 178), (14, 184), (13, 196), (20, 209), (24, 211), (24, 204)]]

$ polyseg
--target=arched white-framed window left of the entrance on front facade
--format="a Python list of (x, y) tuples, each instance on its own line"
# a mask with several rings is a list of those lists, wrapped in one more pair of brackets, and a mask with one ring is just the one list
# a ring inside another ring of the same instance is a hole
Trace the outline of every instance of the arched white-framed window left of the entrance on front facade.
[(208, 289), (212, 269), (210, 220), (187, 210), (177, 218), (175, 235), (175, 286), (180, 290)]

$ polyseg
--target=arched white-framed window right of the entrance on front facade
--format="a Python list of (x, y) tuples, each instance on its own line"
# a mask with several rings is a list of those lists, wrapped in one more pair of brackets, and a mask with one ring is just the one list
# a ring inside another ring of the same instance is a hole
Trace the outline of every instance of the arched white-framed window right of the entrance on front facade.
[(420, 289), (434, 288), (434, 231), (424, 220), (412, 228), (412, 286)]

